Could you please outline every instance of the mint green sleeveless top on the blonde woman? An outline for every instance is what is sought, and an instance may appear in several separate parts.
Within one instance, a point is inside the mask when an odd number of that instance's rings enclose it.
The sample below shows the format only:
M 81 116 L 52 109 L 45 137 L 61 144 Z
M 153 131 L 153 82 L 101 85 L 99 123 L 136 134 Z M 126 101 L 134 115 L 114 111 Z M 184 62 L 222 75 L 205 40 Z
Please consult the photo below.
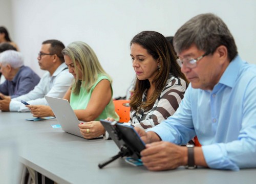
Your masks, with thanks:
M 90 89 L 90 91 L 87 91 L 87 88 L 84 87 L 84 85 L 83 85 L 84 82 L 82 82 L 79 94 L 71 93 L 70 105 L 71 105 L 72 109 L 74 109 L 74 110 L 86 109 L 86 107 L 91 99 L 91 96 L 92 96 L 95 86 L 103 79 L 109 80 L 108 77 L 106 77 L 102 74 L 99 74 L 98 80 L 93 85 L 93 87 Z M 111 86 L 111 93 L 113 95 L 112 86 Z M 106 107 L 104 108 L 102 113 L 95 119 L 95 121 L 99 121 L 100 119 L 104 120 L 108 117 L 114 118 L 116 121 L 119 121 L 119 116 L 115 112 L 115 106 L 114 106 L 113 100 L 111 100 L 109 102 L 109 104 L 106 105 Z

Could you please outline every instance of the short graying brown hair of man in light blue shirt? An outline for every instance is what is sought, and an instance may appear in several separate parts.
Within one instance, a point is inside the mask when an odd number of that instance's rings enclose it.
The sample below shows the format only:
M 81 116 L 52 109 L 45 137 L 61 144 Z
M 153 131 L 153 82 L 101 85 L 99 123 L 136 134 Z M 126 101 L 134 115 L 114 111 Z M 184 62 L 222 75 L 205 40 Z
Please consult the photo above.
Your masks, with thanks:
M 193 44 L 207 54 L 213 54 L 220 45 L 224 45 L 230 61 L 238 55 L 236 43 L 226 24 L 212 13 L 191 18 L 176 32 L 174 48 L 178 54 Z

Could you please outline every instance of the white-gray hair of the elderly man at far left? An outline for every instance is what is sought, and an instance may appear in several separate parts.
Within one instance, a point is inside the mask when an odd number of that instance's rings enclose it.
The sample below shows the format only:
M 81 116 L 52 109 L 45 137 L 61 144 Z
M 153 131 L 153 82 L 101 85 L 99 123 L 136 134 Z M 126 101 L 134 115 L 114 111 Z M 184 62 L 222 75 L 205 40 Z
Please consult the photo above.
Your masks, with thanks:
M 0 63 L 2 63 L 4 66 L 10 64 L 11 67 L 16 69 L 24 65 L 24 59 L 22 53 L 13 50 L 7 50 L 0 54 Z

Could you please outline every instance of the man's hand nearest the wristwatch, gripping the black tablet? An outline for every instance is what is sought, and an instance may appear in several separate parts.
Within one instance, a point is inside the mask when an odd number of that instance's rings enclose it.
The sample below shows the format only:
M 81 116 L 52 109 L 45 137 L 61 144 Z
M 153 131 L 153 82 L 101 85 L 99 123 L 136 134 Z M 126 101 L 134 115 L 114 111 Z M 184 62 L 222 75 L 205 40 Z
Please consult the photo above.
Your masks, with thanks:
M 140 154 L 143 165 L 151 171 L 176 169 L 187 164 L 187 148 L 169 142 L 147 144 Z

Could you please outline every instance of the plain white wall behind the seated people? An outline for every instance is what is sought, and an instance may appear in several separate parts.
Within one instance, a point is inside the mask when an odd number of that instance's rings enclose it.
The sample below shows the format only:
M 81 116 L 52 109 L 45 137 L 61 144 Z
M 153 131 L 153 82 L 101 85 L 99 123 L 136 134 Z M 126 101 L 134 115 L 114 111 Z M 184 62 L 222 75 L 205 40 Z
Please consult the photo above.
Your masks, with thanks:
M 226 22 L 242 58 L 256 63 L 255 0 L 12 0 L 13 37 L 26 64 L 40 75 L 44 71 L 36 57 L 42 41 L 87 42 L 113 77 L 117 97 L 125 95 L 135 76 L 129 46 L 133 36 L 143 30 L 174 35 L 185 21 L 206 12 Z

